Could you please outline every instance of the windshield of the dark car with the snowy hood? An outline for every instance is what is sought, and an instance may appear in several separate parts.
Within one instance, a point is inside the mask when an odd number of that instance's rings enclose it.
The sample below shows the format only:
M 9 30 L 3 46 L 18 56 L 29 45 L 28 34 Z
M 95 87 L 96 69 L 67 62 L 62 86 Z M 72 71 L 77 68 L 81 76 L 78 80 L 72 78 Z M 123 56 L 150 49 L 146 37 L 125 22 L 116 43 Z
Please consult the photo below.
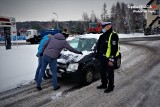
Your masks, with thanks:
M 79 51 L 91 51 L 96 41 L 95 38 L 75 38 L 69 44 Z

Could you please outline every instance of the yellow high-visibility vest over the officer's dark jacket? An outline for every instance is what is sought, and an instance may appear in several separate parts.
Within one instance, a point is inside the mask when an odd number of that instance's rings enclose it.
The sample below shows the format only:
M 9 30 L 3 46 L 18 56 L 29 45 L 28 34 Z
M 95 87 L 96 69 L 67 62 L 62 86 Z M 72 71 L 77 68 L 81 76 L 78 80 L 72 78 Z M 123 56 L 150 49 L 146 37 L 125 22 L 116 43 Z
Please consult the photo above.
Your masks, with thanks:
M 116 33 L 116 32 L 113 32 L 113 33 Z M 107 57 L 107 58 L 109 58 L 110 55 L 111 55 L 111 37 L 112 37 L 112 34 L 113 34 L 113 33 L 110 34 L 109 40 L 108 40 L 108 48 L 107 48 L 107 52 L 106 52 L 106 57 Z M 116 33 L 116 34 L 117 34 L 117 33 Z M 118 36 L 118 34 L 117 34 L 117 36 Z M 119 41 L 118 41 L 118 51 L 117 51 L 117 53 L 116 53 L 116 56 L 119 55 L 119 50 L 120 50 L 120 48 L 119 48 Z

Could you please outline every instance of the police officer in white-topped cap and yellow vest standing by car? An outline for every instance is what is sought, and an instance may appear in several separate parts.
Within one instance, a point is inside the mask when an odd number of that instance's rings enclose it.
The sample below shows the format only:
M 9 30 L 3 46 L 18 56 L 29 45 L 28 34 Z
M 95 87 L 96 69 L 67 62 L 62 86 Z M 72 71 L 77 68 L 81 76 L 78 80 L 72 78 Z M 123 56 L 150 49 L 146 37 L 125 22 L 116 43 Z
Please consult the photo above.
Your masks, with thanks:
M 101 22 L 103 34 L 100 36 L 97 45 L 96 57 L 101 62 L 101 82 L 97 89 L 106 89 L 109 93 L 114 90 L 114 61 L 119 55 L 118 34 L 112 30 L 111 22 Z

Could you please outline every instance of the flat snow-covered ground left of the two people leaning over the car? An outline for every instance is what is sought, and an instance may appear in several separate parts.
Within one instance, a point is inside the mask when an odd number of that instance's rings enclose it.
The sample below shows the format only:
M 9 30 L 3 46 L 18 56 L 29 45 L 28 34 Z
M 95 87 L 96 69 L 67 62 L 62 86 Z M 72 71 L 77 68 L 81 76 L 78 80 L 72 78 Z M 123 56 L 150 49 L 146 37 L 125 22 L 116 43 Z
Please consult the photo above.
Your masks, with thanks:
M 34 79 L 38 45 L 0 47 L 0 91 L 17 87 Z

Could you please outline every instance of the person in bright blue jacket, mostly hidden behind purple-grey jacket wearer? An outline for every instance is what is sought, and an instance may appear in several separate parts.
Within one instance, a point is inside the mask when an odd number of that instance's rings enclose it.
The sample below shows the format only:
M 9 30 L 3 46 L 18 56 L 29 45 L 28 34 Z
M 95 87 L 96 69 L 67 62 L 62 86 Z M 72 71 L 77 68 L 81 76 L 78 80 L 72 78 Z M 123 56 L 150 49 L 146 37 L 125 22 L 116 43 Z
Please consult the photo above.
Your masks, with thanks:
M 43 56 L 42 48 L 43 48 L 45 42 L 51 37 L 52 37 L 51 34 L 48 34 L 48 35 L 44 36 L 42 38 L 42 40 L 40 41 L 40 44 L 38 46 L 38 52 L 37 52 L 37 55 L 36 55 L 38 57 L 38 67 L 37 67 L 35 78 L 34 78 L 35 81 L 37 81 L 39 72 L 40 72 L 41 67 L 42 67 L 42 56 Z

